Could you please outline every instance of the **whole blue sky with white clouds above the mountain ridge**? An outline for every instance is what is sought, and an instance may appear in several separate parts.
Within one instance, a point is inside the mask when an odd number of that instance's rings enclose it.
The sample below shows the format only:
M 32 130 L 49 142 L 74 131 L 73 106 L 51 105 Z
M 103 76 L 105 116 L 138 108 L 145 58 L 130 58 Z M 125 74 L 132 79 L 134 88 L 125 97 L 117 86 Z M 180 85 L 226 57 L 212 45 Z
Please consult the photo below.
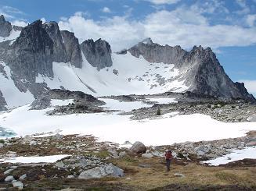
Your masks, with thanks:
M 256 0 L 1 0 L 17 25 L 55 20 L 80 41 L 102 37 L 112 49 L 146 37 L 159 44 L 211 47 L 234 81 L 256 95 Z

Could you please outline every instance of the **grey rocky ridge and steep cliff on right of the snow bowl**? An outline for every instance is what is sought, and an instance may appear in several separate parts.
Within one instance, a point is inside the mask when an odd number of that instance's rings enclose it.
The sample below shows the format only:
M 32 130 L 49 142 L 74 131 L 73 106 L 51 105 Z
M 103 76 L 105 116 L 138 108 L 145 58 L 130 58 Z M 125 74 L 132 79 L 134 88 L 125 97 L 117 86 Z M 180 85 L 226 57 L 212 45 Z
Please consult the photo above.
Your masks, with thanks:
M 193 93 L 254 99 L 244 84 L 233 83 L 229 79 L 211 48 L 195 46 L 191 51 L 185 51 L 179 46 L 161 46 L 146 39 L 128 51 L 137 58 L 142 55 L 148 62 L 174 64 L 179 69 L 179 75 L 174 80 L 185 80 L 189 91 Z

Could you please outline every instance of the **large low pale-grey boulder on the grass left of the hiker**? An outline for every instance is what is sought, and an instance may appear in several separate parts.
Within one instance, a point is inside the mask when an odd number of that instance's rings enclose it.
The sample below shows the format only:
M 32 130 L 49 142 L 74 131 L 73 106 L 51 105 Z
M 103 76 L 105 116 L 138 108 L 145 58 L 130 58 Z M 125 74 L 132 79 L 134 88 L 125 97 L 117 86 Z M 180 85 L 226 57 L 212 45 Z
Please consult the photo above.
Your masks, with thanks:
M 124 170 L 110 163 L 81 172 L 78 179 L 99 179 L 105 176 L 122 177 L 124 176 Z

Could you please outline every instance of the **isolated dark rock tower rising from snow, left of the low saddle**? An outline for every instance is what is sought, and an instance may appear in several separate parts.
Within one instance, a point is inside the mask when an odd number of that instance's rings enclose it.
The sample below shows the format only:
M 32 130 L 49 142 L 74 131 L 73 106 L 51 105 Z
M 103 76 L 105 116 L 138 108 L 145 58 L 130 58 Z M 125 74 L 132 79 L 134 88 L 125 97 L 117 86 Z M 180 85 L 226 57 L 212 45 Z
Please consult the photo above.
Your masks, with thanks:
M 81 50 L 87 61 L 97 69 L 110 67 L 113 64 L 110 44 L 106 41 L 101 39 L 98 41 L 93 41 L 92 39 L 84 41 L 81 44 Z

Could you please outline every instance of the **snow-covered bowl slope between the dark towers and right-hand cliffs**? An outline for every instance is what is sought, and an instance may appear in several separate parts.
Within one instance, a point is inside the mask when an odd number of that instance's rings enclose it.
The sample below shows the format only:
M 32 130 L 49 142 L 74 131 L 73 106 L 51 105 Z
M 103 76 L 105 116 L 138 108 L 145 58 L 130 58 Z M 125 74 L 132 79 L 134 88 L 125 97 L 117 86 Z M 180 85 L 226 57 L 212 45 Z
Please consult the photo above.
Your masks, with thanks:
M 113 65 L 97 70 L 83 56 L 82 68 L 67 63 L 53 63 L 54 78 L 38 76 L 37 83 L 47 83 L 50 88 L 64 87 L 81 90 L 96 96 L 117 94 L 156 94 L 167 90 L 182 92 L 188 89 L 184 81 L 172 80 L 178 76 L 174 65 L 150 63 L 144 58 L 112 54 Z

